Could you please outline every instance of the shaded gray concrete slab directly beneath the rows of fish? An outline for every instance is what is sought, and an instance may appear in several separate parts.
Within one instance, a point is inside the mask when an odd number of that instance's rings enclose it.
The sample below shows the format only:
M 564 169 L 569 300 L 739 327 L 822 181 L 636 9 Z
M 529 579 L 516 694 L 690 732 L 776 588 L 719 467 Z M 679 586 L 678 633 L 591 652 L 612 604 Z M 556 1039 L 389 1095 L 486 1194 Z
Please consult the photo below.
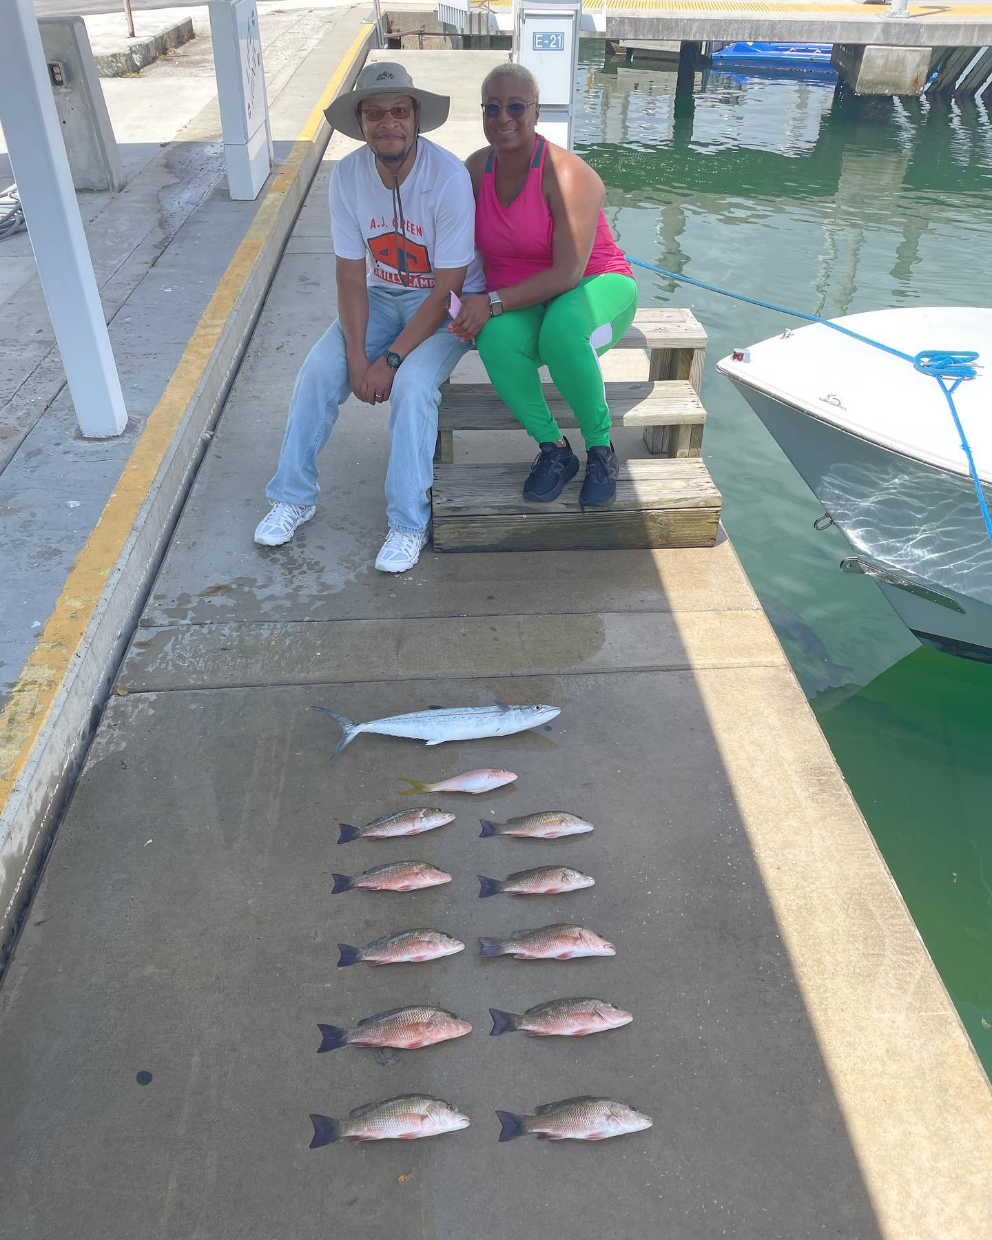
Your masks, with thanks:
M 505 682 L 435 672 L 316 701 L 363 719 L 494 693 Z M 0 1235 L 47 1240 L 69 1210 L 78 1238 L 878 1235 L 693 676 L 527 677 L 508 696 L 562 715 L 551 733 L 434 750 L 360 738 L 334 766 L 308 687 L 113 702 L 2 992 Z M 335 820 L 403 804 L 397 775 L 476 765 L 507 765 L 518 782 L 440 799 L 459 817 L 429 836 L 334 843 Z M 477 838 L 480 816 L 544 805 L 574 807 L 596 832 L 557 846 Z M 454 882 L 330 897 L 331 870 L 407 856 Z M 477 872 L 560 859 L 596 887 L 477 899 Z M 618 956 L 475 956 L 476 935 L 573 918 Z M 335 970 L 337 942 L 413 925 L 469 949 Z M 568 994 L 635 1022 L 565 1043 L 487 1037 L 490 1006 Z M 474 1033 L 392 1068 L 355 1049 L 315 1054 L 319 1021 L 419 999 Z M 309 1112 L 412 1090 L 453 1101 L 471 1128 L 306 1148 Z M 583 1092 L 630 1101 L 655 1128 L 599 1147 L 497 1145 L 494 1109 Z

